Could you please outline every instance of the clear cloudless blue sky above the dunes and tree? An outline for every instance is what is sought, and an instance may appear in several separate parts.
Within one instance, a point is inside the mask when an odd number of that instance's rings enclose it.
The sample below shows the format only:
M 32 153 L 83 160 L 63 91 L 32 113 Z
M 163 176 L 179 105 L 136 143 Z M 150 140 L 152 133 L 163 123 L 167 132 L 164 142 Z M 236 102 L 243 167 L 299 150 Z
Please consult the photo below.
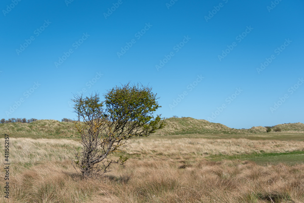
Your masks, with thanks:
M 0 8 L 1 118 L 74 119 L 73 94 L 131 81 L 153 87 L 163 117 L 231 128 L 304 123 L 300 0 L 3 0 Z

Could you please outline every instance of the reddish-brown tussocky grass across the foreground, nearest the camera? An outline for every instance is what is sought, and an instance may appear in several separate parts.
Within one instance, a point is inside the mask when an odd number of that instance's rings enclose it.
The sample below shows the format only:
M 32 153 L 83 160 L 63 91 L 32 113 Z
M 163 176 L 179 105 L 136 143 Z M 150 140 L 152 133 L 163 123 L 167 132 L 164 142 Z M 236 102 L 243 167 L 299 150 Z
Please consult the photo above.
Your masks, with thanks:
M 81 180 L 68 160 L 45 163 L 12 177 L 10 202 L 304 201 L 303 165 L 195 161 L 180 169 L 176 160 L 133 159 L 96 180 Z

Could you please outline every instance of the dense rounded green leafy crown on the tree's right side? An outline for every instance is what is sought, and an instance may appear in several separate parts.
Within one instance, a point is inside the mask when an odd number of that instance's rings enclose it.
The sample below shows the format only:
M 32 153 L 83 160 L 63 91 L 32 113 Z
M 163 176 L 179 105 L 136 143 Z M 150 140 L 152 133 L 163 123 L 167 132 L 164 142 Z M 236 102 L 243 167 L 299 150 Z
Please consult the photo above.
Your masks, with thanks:
M 156 101 L 156 95 L 151 92 L 152 88 L 130 85 L 123 87 L 116 86 L 104 95 L 106 114 L 109 120 L 117 123 L 119 129 L 122 126 L 129 126 L 133 129 L 141 129 L 140 132 L 133 136 L 148 136 L 157 129 L 164 127 L 164 123 L 158 126 L 161 121 L 161 115 L 157 115 L 154 119 L 153 113 L 160 108 Z M 133 134 L 129 130 L 129 134 Z

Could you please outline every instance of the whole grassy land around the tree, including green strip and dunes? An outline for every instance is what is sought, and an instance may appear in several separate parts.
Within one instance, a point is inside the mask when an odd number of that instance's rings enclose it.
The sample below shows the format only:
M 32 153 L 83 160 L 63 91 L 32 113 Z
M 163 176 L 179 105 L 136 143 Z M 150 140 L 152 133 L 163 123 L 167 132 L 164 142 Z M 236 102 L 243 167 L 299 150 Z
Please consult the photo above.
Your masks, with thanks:
M 112 155 L 129 157 L 124 165 L 88 180 L 81 180 L 71 165 L 73 148 L 80 149 L 71 123 L 0 125 L 1 133 L 12 135 L 10 198 L 4 198 L 1 187 L 0 202 L 304 202 L 301 124 L 286 124 L 282 132 L 257 127 L 231 133 L 210 123 L 199 128 L 209 128 L 200 134 L 187 127 L 189 122 L 199 125 L 194 120 L 171 123 L 166 129 L 170 135 L 162 131 L 133 138 Z M 179 135 L 182 128 L 185 133 Z M 3 159 L 0 164 L 4 166 Z M 0 177 L 4 174 L 2 167 Z

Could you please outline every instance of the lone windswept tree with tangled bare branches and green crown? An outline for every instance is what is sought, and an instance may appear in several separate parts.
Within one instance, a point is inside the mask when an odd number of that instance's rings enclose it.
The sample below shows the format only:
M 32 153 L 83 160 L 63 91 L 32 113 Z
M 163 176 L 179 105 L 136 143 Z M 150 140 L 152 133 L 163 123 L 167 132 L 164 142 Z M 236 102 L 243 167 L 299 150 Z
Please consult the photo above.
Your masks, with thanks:
M 152 88 L 130 85 L 116 86 L 104 94 L 101 102 L 99 94 L 82 98 L 74 95 L 74 112 L 77 120 L 74 126 L 81 138 L 80 152 L 75 151 L 74 168 L 82 177 L 94 177 L 109 172 L 113 163 L 123 164 L 128 159 L 120 156 L 108 158 L 128 146 L 132 137 L 149 136 L 165 125 L 160 123 L 161 115 L 153 116 L 159 107 Z

